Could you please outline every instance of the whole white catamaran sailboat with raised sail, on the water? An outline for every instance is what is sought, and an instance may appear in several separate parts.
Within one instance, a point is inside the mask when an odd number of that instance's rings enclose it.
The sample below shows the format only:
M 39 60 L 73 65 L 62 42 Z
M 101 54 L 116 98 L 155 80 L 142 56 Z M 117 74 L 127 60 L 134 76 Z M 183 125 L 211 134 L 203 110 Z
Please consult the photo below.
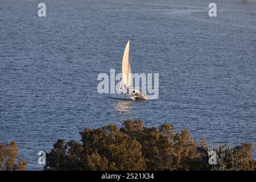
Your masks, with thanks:
M 131 88 L 131 65 L 129 62 L 130 40 L 127 42 L 125 51 L 123 52 L 122 62 L 122 81 L 118 93 L 110 94 L 112 98 L 123 100 L 148 100 L 146 93 L 141 91 L 141 88 Z

